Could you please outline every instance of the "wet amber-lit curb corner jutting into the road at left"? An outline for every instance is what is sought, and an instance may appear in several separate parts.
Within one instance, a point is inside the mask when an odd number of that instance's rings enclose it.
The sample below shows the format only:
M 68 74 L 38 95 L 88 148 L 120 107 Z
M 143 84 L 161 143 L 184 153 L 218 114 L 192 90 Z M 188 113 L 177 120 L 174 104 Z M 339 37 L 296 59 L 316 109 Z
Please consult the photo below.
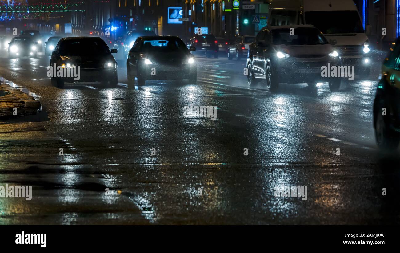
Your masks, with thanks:
M 22 87 L 14 88 L 16 85 L 4 78 L 0 81 L 0 118 L 32 115 L 42 110 L 39 100 L 18 89 Z

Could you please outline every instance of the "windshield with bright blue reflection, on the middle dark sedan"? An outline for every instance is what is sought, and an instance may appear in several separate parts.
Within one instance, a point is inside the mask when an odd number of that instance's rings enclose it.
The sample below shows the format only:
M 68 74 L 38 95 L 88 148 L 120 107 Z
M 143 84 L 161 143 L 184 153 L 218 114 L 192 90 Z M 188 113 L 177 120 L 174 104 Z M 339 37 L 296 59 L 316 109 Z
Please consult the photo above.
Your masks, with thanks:
M 177 38 L 167 38 L 162 40 L 144 40 L 141 52 L 173 52 L 187 50 L 182 40 Z

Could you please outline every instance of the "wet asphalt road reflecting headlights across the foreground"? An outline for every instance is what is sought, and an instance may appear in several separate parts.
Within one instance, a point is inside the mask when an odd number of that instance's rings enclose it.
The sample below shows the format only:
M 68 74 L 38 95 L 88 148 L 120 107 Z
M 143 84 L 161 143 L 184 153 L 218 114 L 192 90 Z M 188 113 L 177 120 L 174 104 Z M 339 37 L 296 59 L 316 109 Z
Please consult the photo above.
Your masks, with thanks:
M 43 111 L 0 121 L 0 185 L 33 191 L 0 198 L 0 224 L 400 224 L 399 160 L 376 150 L 372 127 L 378 61 L 339 92 L 271 93 L 225 57 L 199 58 L 196 85 L 131 89 L 118 60 L 117 88 L 59 89 L 49 56 L 5 56 L 2 82 Z M 217 119 L 184 117 L 191 103 L 217 106 Z M 282 184 L 307 186 L 308 199 L 275 197 Z

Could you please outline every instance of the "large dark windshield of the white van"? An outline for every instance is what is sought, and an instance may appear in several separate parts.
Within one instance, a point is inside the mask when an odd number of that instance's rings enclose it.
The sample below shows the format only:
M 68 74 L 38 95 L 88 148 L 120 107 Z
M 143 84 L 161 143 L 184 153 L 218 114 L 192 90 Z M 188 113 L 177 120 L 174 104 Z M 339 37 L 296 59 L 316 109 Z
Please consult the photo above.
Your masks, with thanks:
M 340 18 L 346 17 L 346 18 Z M 306 12 L 306 24 L 312 24 L 323 34 L 364 33 L 355 10 Z

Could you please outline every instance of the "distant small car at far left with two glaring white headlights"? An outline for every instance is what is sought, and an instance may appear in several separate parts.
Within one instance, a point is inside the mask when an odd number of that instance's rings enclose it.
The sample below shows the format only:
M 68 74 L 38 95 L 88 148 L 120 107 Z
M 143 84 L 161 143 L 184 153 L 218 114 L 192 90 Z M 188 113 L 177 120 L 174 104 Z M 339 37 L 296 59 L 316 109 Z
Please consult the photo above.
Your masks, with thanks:
M 32 38 L 27 37 L 14 37 L 11 42 L 8 42 L 8 58 L 19 58 L 22 56 L 28 56 L 36 58 L 37 44 Z

